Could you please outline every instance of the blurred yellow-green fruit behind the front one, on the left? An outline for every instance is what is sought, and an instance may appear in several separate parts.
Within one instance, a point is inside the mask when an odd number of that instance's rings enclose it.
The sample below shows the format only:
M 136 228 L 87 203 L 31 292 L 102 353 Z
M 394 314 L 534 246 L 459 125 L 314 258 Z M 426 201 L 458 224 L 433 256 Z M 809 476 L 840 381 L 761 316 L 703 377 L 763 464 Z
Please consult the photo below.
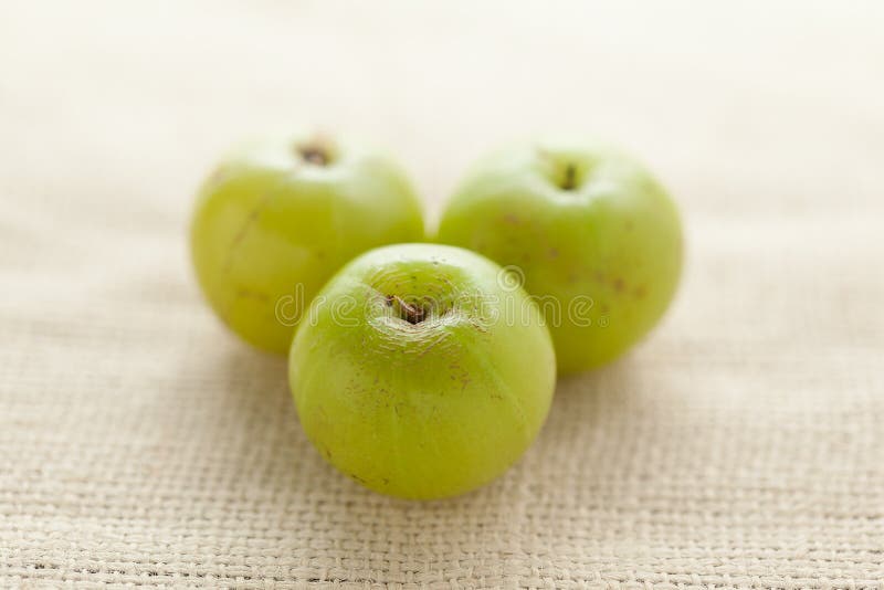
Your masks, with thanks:
M 197 278 L 218 316 L 252 345 L 285 354 L 303 309 L 346 262 L 372 247 L 424 239 L 403 172 L 358 146 L 305 160 L 311 138 L 231 155 L 199 191 L 190 229 Z

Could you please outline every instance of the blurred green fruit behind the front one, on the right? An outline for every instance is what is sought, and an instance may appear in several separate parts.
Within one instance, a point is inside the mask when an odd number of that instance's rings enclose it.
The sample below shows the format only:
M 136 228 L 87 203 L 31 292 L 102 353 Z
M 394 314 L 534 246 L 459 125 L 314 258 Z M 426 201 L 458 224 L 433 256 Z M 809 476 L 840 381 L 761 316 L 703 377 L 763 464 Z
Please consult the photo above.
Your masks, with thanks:
M 606 364 L 644 336 L 682 267 L 681 223 L 666 192 L 631 158 L 591 144 L 538 143 L 488 157 L 449 203 L 439 241 L 522 268 L 561 373 Z

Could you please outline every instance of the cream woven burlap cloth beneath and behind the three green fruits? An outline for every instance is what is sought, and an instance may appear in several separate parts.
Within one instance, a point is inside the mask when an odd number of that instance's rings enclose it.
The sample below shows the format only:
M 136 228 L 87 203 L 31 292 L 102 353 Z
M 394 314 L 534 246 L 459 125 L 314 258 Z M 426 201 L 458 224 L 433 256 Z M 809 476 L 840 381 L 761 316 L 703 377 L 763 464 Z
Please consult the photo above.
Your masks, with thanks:
M 884 8 L 613 4 L 0 3 L 0 587 L 882 588 Z M 189 267 L 213 160 L 305 125 L 431 220 L 502 141 L 612 138 L 677 302 L 493 485 L 367 492 Z

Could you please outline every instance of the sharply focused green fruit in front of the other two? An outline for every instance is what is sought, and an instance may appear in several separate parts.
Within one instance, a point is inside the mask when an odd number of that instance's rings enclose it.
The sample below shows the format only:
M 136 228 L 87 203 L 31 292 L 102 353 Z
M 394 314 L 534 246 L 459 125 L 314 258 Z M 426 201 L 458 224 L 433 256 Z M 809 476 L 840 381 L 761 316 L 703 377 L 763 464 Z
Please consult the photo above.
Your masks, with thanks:
M 481 486 L 523 454 L 556 361 L 537 306 L 499 273 L 465 250 L 402 244 L 329 281 L 290 356 L 298 417 L 323 456 L 371 489 L 427 499 Z M 431 302 L 423 322 L 403 319 L 391 295 Z

